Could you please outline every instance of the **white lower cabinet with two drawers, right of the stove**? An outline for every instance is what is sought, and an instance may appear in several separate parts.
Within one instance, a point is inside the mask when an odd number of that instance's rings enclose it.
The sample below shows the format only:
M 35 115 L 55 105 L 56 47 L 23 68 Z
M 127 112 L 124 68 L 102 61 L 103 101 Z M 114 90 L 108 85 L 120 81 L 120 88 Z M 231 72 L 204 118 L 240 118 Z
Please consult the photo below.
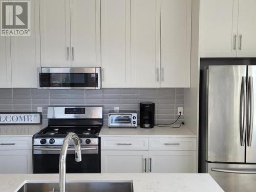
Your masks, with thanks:
M 136 150 L 140 140 L 148 143 Z M 195 137 L 103 137 L 101 144 L 101 173 L 196 173 Z

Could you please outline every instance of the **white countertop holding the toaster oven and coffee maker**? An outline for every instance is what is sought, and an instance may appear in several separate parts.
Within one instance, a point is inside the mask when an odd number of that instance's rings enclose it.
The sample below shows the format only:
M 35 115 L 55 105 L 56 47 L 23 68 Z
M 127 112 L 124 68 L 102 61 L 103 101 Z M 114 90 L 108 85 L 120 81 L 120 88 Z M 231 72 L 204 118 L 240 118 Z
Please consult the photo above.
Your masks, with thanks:
M 196 137 L 186 126 L 180 128 L 157 127 L 152 129 L 143 129 L 139 125 L 135 128 L 109 128 L 103 126 L 100 137 Z

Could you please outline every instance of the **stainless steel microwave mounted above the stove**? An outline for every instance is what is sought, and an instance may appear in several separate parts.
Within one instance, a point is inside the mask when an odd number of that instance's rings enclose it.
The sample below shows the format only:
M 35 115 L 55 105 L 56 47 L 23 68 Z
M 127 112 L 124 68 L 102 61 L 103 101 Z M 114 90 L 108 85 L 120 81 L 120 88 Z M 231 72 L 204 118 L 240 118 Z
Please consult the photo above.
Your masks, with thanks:
M 100 68 L 37 68 L 38 89 L 100 89 Z

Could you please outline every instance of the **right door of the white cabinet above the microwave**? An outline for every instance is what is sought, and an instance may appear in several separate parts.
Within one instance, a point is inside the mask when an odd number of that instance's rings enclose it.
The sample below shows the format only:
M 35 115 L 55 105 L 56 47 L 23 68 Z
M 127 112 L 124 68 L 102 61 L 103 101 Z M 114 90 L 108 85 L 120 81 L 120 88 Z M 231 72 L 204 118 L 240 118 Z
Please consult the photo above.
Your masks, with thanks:
M 71 66 L 100 67 L 100 0 L 70 0 L 70 18 Z

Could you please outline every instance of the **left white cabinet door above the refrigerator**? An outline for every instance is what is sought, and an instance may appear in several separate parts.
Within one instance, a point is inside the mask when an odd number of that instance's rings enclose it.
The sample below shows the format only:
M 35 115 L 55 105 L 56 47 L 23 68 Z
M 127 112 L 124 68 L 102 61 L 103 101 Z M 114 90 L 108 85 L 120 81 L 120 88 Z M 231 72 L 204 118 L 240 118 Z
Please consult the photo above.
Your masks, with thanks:
M 200 56 L 237 57 L 237 27 L 238 0 L 200 1 Z

